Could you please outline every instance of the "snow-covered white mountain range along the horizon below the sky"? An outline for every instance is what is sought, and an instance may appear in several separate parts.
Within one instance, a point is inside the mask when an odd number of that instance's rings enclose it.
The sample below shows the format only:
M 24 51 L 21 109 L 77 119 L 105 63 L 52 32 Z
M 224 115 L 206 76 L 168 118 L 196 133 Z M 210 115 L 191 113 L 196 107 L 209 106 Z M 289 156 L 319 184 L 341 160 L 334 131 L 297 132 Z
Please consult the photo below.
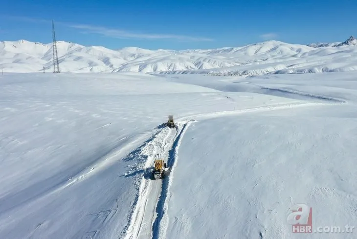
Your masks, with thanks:
M 322 43 L 326 44 L 326 43 Z M 264 75 L 357 70 L 357 40 L 298 45 L 270 40 L 243 47 L 207 50 L 111 50 L 58 41 L 62 72 Z M 52 43 L 0 42 L 3 72 L 52 71 Z

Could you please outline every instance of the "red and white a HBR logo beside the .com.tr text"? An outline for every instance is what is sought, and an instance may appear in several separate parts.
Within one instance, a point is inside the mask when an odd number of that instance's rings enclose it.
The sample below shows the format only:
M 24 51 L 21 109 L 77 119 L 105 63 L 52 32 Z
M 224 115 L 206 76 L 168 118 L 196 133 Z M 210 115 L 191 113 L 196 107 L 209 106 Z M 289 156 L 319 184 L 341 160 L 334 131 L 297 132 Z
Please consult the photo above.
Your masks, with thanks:
M 312 233 L 312 207 L 299 203 L 292 205 L 288 223 L 293 233 Z

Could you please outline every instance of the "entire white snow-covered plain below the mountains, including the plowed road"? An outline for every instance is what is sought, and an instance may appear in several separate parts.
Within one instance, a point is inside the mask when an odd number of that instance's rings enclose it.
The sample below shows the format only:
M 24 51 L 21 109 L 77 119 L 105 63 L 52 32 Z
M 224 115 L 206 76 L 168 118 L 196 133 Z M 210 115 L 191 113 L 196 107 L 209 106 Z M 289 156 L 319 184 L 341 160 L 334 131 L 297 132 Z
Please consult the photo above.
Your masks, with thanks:
M 356 79 L 5 73 L 0 238 L 356 238 Z

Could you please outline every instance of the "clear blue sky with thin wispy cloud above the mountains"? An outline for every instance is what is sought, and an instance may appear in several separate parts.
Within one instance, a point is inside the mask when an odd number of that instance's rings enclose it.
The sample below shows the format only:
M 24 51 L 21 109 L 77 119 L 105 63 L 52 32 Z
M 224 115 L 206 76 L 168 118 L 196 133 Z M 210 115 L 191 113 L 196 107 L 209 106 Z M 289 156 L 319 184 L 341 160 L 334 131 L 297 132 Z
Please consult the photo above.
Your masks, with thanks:
M 4 0 L 0 40 L 194 49 L 357 35 L 357 0 Z

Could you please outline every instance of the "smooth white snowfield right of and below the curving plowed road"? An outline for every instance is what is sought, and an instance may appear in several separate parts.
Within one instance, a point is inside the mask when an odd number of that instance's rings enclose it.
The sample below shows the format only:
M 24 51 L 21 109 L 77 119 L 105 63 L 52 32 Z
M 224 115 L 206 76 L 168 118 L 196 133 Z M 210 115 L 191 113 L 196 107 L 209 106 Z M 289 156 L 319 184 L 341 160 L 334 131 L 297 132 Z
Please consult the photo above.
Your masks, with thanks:
M 313 208 L 314 230 L 356 226 L 357 113 L 328 108 L 329 114 L 320 107 L 277 110 L 191 127 L 179 147 L 161 238 L 301 239 L 287 225 L 297 203 Z

